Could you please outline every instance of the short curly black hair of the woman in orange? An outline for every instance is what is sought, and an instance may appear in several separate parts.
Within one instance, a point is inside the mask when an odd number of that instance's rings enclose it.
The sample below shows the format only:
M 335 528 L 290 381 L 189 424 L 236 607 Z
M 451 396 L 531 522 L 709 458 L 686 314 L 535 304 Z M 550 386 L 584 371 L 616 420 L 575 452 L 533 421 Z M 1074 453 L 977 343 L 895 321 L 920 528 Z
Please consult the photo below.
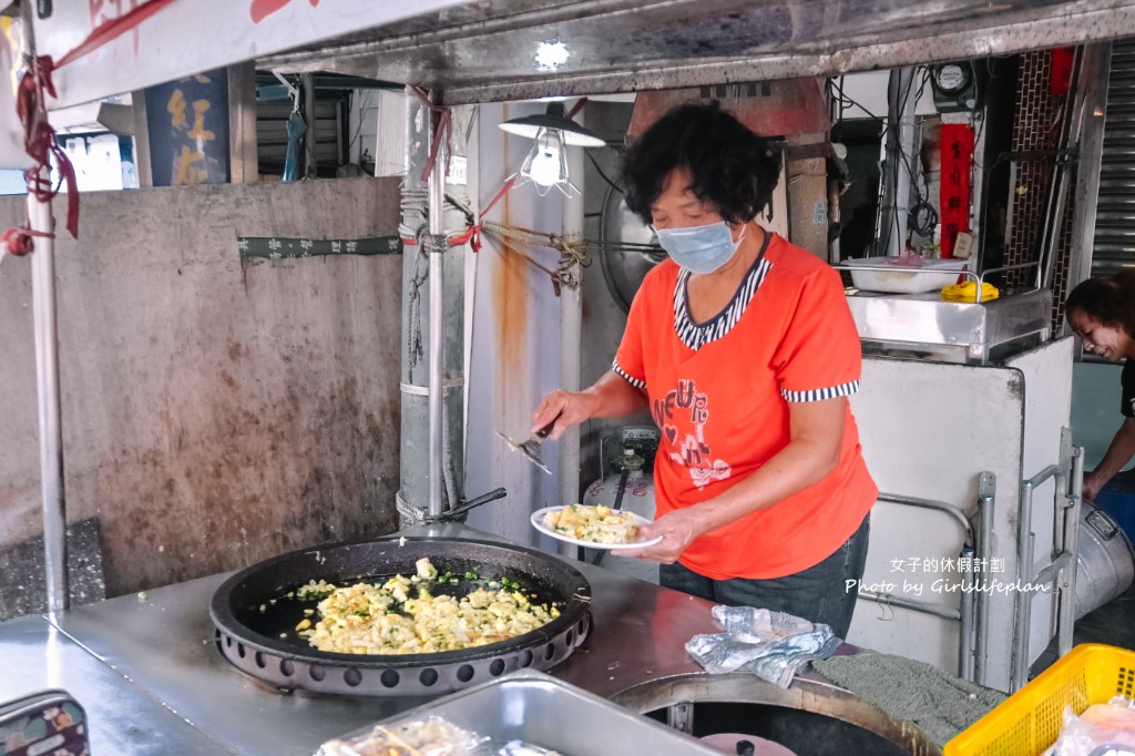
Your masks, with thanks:
M 672 108 L 631 144 L 621 184 L 627 207 L 650 224 L 650 207 L 666 177 L 687 168 L 690 191 L 731 224 L 753 220 L 772 200 L 781 151 L 757 136 L 714 100 Z

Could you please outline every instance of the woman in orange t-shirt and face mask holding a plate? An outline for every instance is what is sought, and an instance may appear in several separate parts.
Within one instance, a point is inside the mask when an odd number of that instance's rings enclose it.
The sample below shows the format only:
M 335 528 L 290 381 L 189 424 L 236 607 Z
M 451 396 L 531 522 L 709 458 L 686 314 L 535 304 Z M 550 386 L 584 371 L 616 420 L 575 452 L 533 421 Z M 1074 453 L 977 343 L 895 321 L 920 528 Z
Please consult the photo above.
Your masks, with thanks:
M 861 353 L 839 275 L 754 218 L 780 156 L 716 103 L 631 146 L 627 204 L 670 254 L 631 305 L 612 369 L 544 397 L 550 436 L 649 406 L 663 586 L 789 612 L 847 636 L 878 493 L 848 396 Z

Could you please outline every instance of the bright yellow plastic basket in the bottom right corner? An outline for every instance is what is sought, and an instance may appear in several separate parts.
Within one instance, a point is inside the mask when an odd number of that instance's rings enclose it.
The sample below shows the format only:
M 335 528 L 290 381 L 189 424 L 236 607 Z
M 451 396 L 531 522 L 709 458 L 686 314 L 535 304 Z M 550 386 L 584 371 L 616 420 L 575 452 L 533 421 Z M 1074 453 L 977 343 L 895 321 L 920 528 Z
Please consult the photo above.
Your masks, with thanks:
M 1076 646 L 945 744 L 945 756 L 1036 756 L 1060 737 L 1065 706 L 1079 714 L 1112 696 L 1135 698 L 1135 652 Z

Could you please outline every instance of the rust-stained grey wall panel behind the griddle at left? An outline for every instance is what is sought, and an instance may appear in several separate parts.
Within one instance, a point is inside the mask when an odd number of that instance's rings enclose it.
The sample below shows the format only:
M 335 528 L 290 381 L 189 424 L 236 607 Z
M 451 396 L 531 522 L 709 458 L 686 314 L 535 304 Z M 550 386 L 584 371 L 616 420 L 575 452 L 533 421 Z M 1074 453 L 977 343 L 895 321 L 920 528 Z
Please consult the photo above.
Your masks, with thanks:
M 109 596 L 394 529 L 402 259 L 242 266 L 237 236 L 394 234 L 396 179 L 90 193 L 58 243 L 68 521 Z M 59 203 L 57 212 L 61 212 Z M 0 225 L 23 220 L 20 199 Z M 37 534 L 28 260 L 0 267 L 0 549 Z

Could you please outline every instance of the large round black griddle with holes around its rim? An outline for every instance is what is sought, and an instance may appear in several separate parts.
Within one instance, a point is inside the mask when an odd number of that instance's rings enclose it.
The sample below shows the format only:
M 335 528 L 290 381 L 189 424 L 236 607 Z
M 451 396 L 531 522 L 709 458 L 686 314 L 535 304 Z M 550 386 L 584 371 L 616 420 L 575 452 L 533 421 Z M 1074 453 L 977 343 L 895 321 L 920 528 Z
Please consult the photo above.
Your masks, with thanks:
M 495 578 L 520 582 L 560 616 L 531 632 L 487 646 L 434 654 L 321 652 L 295 631 L 312 602 L 286 598 L 310 580 L 350 585 L 412 576 L 428 556 L 440 573 L 461 578 L 435 593 L 464 595 Z M 275 600 L 274 600 L 275 599 Z M 382 538 L 305 548 L 254 564 L 213 594 L 217 647 L 233 665 L 280 689 L 363 696 L 435 696 L 523 667 L 548 670 L 568 658 L 590 630 L 591 587 L 568 563 L 522 546 L 448 538 Z

